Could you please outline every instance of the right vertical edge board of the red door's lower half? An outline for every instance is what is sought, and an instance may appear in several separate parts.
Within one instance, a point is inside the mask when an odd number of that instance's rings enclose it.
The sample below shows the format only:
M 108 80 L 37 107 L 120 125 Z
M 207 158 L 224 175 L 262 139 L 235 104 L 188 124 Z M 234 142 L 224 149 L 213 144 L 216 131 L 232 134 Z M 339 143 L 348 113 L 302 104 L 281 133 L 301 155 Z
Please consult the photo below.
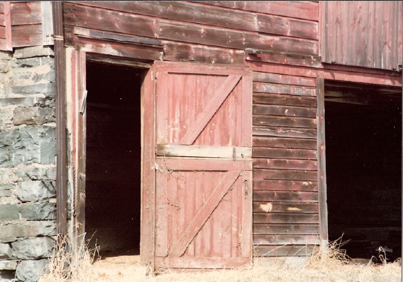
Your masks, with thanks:
M 252 255 L 252 171 L 243 171 L 242 187 L 242 257 Z

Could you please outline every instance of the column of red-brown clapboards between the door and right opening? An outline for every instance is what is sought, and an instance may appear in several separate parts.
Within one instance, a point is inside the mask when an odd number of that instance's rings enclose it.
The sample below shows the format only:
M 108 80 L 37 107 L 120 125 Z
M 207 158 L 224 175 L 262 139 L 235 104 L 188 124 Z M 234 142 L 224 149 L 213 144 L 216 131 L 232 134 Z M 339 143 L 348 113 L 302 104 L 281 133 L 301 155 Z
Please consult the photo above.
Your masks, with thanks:
M 311 78 L 253 73 L 256 255 L 305 256 L 319 244 L 315 86 Z

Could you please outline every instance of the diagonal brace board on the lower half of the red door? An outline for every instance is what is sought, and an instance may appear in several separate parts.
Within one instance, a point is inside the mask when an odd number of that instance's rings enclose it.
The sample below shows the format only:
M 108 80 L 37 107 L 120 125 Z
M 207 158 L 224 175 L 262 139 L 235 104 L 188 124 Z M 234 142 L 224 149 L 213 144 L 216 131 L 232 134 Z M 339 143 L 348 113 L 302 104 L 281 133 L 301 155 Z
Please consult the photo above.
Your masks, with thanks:
M 214 209 L 219 205 L 220 201 L 227 194 L 227 192 L 234 185 L 235 181 L 241 175 L 240 171 L 227 171 L 224 175 L 223 179 L 219 182 L 219 184 L 214 189 L 213 193 L 207 199 L 205 204 L 199 209 L 196 216 L 189 223 L 185 231 L 179 237 L 178 241 L 172 246 L 172 251 L 169 253 L 170 257 L 180 257 L 186 251 L 187 246 L 193 240 L 193 238 L 197 235 L 199 230 L 203 227 L 203 225 L 210 218 L 211 214 L 214 212 Z

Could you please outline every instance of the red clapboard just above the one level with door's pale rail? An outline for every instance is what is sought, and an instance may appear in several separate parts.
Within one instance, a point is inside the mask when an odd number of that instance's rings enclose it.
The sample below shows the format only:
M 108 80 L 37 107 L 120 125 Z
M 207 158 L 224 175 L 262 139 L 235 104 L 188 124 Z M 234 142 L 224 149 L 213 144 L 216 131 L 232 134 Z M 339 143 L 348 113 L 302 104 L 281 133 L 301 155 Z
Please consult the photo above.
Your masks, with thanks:
M 316 149 L 315 139 L 277 138 L 253 136 L 253 147 L 272 147 L 288 149 Z

